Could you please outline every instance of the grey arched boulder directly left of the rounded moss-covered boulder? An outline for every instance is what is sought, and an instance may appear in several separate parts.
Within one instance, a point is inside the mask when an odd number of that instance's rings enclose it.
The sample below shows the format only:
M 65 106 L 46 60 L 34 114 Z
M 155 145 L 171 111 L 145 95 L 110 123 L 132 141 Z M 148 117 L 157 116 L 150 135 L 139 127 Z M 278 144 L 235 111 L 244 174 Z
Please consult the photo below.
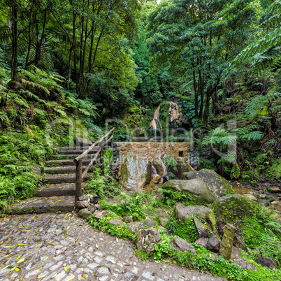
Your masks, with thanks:
M 215 230 L 216 222 L 215 215 L 212 210 L 206 206 L 184 206 L 182 203 L 175 205 L 175 217 L 181 222 L 186 222 L 193 217 L 196 217 L 202 222 L 205 222 L 210 229 Z

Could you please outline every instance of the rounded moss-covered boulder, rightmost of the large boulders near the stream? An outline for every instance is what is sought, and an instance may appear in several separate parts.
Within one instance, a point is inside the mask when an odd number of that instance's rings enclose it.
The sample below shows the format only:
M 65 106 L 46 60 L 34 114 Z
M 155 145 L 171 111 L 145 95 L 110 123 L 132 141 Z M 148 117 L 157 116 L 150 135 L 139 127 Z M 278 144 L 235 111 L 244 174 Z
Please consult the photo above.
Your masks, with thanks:
M 239 194 L 229 194 L 219 198 L 211 206 L 217 219 L 224 222 L 234 223 L 244 217 L 256 215 L 258 205 L 256 202 L 247 199 Z

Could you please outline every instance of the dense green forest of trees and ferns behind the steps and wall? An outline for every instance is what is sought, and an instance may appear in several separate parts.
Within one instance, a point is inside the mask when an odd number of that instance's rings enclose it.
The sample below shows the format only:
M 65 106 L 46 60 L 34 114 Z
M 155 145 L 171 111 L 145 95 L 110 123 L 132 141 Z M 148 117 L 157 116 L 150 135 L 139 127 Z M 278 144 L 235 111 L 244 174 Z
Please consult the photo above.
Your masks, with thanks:
M 97 139 L 108 118 L 122 120 L 112 127 L 124 141 L 124 124 L 147 129 L 160 104 L 165 127 L 169 101 L 185 129 L 170 141 L 192 134 L 199 150 L 212 145 L 226 155 L 201 159 L 201 167 L 252 185 L 280 180 L 280 0 L 0 6 L 1 205 L 34 189 L 31 167 L 53 152 L 50 122 L 74 118 Z M 63 122 L 51 135 L 57 145 L 69 141 Z

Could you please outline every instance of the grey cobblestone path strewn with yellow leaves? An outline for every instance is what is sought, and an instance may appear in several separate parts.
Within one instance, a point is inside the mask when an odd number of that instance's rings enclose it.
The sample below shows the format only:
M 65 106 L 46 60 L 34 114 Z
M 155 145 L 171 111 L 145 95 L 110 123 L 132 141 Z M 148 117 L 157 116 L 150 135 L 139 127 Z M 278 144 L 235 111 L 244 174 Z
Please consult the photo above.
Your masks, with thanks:
M 129 240 L 92 229 L 73 212 L 0 219 L 0 280 L 223 279 L 175 264 L 142 261 Z

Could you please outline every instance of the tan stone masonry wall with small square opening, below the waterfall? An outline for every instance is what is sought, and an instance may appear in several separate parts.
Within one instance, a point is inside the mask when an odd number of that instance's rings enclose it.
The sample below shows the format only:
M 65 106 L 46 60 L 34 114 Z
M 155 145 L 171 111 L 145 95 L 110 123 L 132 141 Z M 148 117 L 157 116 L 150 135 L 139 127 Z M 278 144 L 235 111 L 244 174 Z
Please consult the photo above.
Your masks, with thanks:
M 119 154 L 120 164 L 129 154 L 135 154 L 137 158 L 148 159 L 152 161 L 156 157 L 162 157 L 163 154 L 170 154 L 177 157 L 188 157 L 190 143 L 116 143 L 116 150 Z

